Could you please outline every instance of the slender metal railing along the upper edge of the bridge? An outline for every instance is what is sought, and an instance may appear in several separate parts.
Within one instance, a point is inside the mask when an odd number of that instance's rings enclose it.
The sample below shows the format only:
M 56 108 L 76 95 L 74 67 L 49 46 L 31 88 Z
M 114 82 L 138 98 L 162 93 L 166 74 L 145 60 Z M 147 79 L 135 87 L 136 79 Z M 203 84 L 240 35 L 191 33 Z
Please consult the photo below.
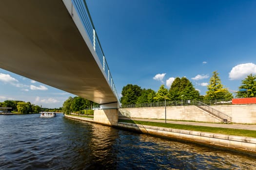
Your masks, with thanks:
M 91 41 L 91 44 L 93 45 L 94 51 L 97 53 L 98 55 L 98 59 L 101 63 L 101 66 L 103 68 L 103 70 L 105 71 L 105 74 L 107 76 L 107 80 L 109 81 L 113 92 L 115 93 L 115 95 L 118 98 L 119 101 L 119 96 L 118 96 L 118 92 L 116 89 L 116 86 L 114 84 L 112 75 L 110 73 L 104 52 L 102 50 L 102 47 L 100 45 L 99 39 L 98 39 L 98 35 L 97 32 L 95 30 L 94 24 L 93 24 L 93 20 L 91 18 L 91 15 L 89 13 L 89 9 L 88 6 L 85 2 L 85 0 L 72 0 L 72 4 L 74 5 L 79 18 L 83 24 L 84 29 L 86 30 L 86 33 Z

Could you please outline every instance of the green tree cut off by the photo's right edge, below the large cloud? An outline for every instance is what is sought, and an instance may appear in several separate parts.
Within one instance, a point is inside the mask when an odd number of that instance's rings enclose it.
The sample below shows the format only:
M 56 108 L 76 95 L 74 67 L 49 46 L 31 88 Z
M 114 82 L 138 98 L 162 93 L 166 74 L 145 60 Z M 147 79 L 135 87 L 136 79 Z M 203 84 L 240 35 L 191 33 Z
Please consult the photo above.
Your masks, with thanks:
M 242 80 L 242 85 L 238 89 L 236 92 L 236 97 L 238 98 L 256 97 L 256 76 L 248 75 Z

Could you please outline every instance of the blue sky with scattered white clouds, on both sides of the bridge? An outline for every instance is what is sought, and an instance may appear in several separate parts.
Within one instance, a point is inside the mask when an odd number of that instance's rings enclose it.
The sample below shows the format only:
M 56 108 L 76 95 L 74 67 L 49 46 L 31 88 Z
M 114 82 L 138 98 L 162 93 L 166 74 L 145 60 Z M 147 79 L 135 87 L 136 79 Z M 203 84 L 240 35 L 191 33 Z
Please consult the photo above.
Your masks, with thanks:
M 204 95 L 212 72 L 236 91 L 256 74 L 256 0 L 86 0 L 118 93 L 187 77 Z M 0 69 L 0 102 L 61 107 L 71 95 Z

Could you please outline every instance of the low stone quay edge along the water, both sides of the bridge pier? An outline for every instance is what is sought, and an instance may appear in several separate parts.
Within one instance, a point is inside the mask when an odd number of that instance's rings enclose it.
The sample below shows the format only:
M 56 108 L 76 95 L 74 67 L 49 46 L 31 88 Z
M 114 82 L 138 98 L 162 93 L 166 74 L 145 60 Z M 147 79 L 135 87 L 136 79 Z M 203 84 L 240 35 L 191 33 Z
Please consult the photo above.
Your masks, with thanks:
M 90 118 L 81 118 L 77 116 L 65 115 L 67 118 L 78 119 L 83 121 L 94 122 Z M 196 122 L 197 123 L 197 122 Z M 214 124 L 214 123 L 211 123 Z M 208 132 L 199 132 L 175 128 L 148 126 L 143 124 L 126 123 L 118 121 L 117 128 L 126 130 L 133 130 L 139 133 L 163 136 L 169 138 L 182 139 L 186 141 L 196 142 L 204 145 L 217 146 L 239 152 L 247 152 L 256 155 L 256 138 L 244 137 L 244 136 L 233 136 L 223 135 Z

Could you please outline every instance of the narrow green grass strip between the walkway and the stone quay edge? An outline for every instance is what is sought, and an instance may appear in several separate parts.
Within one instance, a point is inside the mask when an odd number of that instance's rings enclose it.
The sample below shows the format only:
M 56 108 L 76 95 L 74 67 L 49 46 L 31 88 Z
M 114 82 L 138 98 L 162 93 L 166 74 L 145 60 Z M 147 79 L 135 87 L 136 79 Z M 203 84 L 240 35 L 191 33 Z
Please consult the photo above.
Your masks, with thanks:
M 126 122 L 126 123 L 148 125 L 148 126 L 158 126 L 158 127 L 173 128 L 173 129 L 184 129 L 184 130 L 190 130 L 190 131 L 209 132 L 209 133 L 215 133 L 215 134 L 256 137 L 256 131 L 252 131 L 252 130 L 217 128 L 217 127 L 207 127 L 207 126 L 194 126 L 194 125 L 183 125 L 183 124 L 174 124 L 174 123 L 159 123 L 159 122 L 127 120 L 127 119 L 119 119 L 118 121 Z

